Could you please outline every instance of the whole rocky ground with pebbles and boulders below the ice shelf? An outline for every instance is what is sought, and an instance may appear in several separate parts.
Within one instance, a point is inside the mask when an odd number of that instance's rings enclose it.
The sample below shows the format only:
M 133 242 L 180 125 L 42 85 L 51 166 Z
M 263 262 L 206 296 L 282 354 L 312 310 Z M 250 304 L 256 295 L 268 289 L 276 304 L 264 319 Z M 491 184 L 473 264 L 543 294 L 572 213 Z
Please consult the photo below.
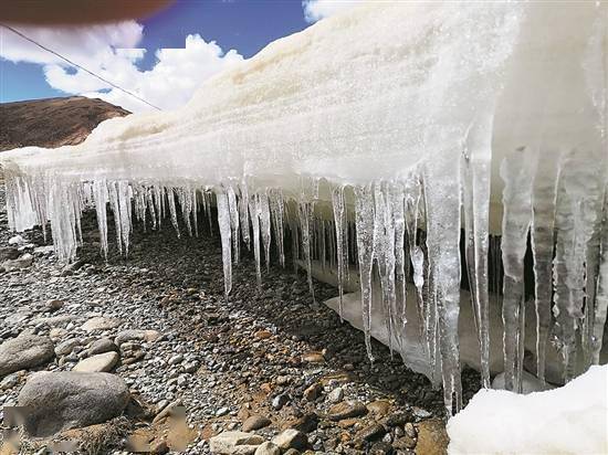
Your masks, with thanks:
M 0 214 L 0 454 L 11 437 L 22 453 L 444 451 L 441 392 L 379 343 L 370 364 L 363 334 L 321 303 L 336 289 L 315 283 L 314 303 L 277 266 L 258 289 L 244 257 L 227 300 L 218 235 L 135 226 L 128 260 L 106 262 L 93 215 L 83 228 L 65 266 Z M 463 381 L 467 400 L 479 377 Z M 34 411 L 11 433 L 17 404 Z

